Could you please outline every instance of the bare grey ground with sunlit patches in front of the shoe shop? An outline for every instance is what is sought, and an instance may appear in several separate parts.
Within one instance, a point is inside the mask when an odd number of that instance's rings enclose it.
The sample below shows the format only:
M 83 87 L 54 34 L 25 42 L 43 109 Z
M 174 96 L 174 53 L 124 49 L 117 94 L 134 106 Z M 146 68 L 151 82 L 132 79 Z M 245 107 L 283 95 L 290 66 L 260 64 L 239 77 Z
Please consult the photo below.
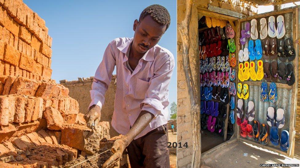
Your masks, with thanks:
M 278 155 L 269 150 L 236 141 L 228 144 L 209 156 L 203 157 L 201 167 L 260 167 L 260 164 L 300 164 L 300 143 L 295 143 L 294 159 Z M 248 153 L 248 156 L 244 156 Z

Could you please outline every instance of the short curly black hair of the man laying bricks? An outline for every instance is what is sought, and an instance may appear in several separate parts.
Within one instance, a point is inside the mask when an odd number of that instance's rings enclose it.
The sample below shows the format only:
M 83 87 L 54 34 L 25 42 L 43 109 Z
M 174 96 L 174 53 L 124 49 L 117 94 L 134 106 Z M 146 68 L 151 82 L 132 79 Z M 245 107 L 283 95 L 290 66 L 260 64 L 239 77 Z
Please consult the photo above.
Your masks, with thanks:
M 171 22 L 171 17 L 170 13 L 164 6 L 157 4 L 148 6 L 140 14 L 139 22 L 142 21 L 147 15 L 150 15 L 157 23 L 166 25 L 166 30 L 168 29 Z

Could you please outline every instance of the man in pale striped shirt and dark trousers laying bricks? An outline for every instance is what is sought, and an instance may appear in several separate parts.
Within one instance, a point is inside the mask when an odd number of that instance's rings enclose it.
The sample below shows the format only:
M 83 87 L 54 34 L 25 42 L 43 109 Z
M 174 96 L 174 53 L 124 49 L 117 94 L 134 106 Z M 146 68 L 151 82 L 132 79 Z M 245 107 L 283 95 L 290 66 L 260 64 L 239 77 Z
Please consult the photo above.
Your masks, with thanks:
M 133 38 L 109 43 L 95 73 L 87 126 L 97 127 L 114 67 L 116 96 L 113 128 L 124 135 L 112 147 L 114 153 L 102 167 L 116 163 L 127 148 L 131 167 L 169 167 L 168 85 L 174 69 L 172 53 L 157 45 L 170 25 L 168 10 L 151 5 L 133 24 Z

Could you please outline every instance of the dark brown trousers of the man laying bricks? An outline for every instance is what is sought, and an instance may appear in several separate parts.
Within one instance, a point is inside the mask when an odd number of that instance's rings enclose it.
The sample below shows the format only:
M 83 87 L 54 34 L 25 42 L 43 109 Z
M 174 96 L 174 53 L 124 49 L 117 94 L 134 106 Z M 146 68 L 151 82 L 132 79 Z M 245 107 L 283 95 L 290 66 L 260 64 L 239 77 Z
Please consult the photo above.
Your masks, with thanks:
M 169 168 L 168 132 L 165 125 L 133 140 L 127 152 L 131 167 Z

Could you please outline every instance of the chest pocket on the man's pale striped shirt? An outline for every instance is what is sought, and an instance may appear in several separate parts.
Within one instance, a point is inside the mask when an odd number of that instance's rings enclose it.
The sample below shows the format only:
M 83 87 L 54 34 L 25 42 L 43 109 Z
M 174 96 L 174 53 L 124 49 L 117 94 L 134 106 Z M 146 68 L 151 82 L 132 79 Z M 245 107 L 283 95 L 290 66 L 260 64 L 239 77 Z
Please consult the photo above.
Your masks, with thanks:
M 132 95 L 136 99 L 145 99 L 146 92 L 149 88 L 149 82 L 136 78 L 132 88 Z

